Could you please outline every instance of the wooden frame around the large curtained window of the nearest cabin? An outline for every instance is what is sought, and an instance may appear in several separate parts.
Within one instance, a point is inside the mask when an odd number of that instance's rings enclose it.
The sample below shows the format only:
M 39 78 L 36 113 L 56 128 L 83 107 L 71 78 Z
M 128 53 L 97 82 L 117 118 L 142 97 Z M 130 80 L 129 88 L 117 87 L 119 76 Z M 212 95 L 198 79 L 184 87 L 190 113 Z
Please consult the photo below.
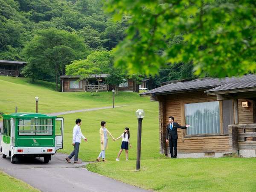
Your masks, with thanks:
M 216 102 L 216 99 L 211 99 L 207 100 L 204 102 Z M 223 108 L 222 108 L 222 101 L 219 102 L 219 117 L 220 117 L 220 133 L 213 133 L 213 134 L 193 134 L 193 135 L 188 135 L 186 129 L 182 129 L 182 140 L 184 139 L 189 139 L 192 137 L 214 137 L 214 136 L 227 136 L 228 134 L 224 134 L 223 130 Z M 193 102 L 181 102 L 181 124 L 185 125 L 186 124 L 186 118 L 185 118 L 185 104 L 192 104 L 192 103 L 202 103 L 202 101 L 193 101 Z

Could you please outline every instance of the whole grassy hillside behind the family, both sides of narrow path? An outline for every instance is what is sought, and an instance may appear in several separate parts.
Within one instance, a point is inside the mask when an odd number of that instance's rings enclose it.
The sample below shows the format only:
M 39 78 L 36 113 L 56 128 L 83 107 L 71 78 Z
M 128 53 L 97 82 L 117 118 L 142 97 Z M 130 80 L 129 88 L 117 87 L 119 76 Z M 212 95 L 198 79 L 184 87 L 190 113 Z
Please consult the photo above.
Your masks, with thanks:
M 100 92 L 99 96 L 90 93 L 60 93 L 54 91 L 54 84 L 46 81 L 36 81 L 31 84 L 29 79 L 0 76 L 0 111 L 13 112 L 15 105 L 18 111 L 34 111 L 34 97 L 39 96 L 39 112 L 50 113 L 69 111 L 82 108 L 111 106 L 112 93 Z M 158 143 L 158 103 L 149 102 L 149 97 L 140 97 L 138 93 L 119 92 L 116 96 L 116 105 L 128 105 L 122 108 L 105 109 L 83 113 L 72 113 L 64 117 L 64 149 L 60 152 L 72 151 L 72 131 L 77 118 L 82 119 L 81 129 L 88 138 L 82 143 L 79 157 L 82 160 L 94 161 L 100 151 L 99 128 L 102 120 L 107 122 L 107 128 L 114 137 L 119 137 L 125 127 L 131 130 L 131 144 L 129 158 L 136 159 L 137 146 L 137 117 L 135 111 L 139 108 L 145 110 L 143 120 L 142 158 L 159 157 Z M 106 152 L 107 160 L 115 160 L 119 151 L 121 140 L 109 140 L 109 149 Z M 122 154 L 121 160 L 125 158 Z

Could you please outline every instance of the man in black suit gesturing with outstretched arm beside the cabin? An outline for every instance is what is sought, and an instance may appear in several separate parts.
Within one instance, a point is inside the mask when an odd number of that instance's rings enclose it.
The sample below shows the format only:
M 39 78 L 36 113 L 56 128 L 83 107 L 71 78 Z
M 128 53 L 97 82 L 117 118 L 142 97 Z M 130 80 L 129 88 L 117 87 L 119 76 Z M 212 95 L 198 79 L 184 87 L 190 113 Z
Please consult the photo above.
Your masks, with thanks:
M 173 121 L 174 121 L 174 117 L 169 116 L 169 124 L 166 126 L 166 143 L 168 143 L 168 140 L 169 140 L 171 157 L 177 158 L 177 140 L 178 140 L 177 128 L 186 129 L 190 125 L 180 126 L 177 122 L 173 122 Z M 174 150 L 174 155 L 173 155 L 173 150 Z

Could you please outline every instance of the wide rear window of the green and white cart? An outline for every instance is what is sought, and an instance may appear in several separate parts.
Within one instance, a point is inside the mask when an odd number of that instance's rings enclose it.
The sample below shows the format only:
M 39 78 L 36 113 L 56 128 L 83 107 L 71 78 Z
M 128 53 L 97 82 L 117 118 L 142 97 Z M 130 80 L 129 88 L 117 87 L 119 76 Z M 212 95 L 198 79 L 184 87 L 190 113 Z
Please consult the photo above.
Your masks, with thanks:
M 52 119 L 19 119 L 19 135 L 52 135 Z

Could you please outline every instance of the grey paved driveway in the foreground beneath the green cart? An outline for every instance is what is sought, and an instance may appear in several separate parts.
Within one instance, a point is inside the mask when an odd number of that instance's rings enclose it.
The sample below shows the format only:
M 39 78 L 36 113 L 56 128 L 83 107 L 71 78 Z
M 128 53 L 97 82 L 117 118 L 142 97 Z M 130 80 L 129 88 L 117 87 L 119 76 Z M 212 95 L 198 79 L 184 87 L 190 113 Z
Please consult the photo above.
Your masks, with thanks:
M 43 159 L 22 160 L 12 164 L 0 157 L 0 169 L 43 192 L 145 192 L 145 190 L 98 175 L 81 166 L 67 163 L 65 154 L 57 153 L 48 164 Z M 127 175 L 129 177 L 129 175 Z

